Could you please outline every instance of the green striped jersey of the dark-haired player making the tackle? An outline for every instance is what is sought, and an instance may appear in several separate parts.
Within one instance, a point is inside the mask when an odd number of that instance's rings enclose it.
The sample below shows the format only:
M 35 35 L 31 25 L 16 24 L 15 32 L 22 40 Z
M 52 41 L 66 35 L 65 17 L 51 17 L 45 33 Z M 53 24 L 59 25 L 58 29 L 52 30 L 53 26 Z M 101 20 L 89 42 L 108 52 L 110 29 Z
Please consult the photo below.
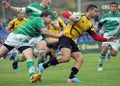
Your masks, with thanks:
M 16 29 L 14 34 L 22 34 L 29 37 L 43 36 L 40 29 L 46 28 L 41 17 L 35 17 Z M 47 36 L 44 36 L 46 38 Z

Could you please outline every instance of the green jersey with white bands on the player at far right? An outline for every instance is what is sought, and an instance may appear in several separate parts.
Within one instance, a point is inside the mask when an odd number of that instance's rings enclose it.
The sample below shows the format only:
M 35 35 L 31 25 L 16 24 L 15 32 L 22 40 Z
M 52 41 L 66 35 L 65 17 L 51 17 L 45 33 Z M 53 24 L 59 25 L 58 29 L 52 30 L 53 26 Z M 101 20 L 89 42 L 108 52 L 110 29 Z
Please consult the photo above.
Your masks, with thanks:
M 108 36 L 116 36 L 120 38 L 120 13 L 107 13 L 102 16 L 100 23 L 104 25 L 104 32 Z

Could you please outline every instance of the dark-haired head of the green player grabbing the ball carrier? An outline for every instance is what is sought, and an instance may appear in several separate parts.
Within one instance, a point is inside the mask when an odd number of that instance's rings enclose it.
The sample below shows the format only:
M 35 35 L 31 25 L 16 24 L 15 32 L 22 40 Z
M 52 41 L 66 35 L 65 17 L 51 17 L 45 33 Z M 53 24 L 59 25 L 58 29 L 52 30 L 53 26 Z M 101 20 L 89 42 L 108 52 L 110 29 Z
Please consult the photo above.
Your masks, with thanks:
M 43 18 L 45 24 L 49 24 L 52 21 L 52 14 L 51 12 L 45 10 L 40 14 L 40 17 Z

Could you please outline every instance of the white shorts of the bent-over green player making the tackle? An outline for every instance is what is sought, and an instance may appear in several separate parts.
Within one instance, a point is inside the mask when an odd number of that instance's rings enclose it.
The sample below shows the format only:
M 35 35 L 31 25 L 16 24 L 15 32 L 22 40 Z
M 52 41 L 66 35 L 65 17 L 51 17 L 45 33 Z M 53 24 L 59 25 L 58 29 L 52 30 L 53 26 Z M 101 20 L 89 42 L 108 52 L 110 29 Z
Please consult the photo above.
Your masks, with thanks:
M 30 39 L 31 37 L 29 36 L 11 33 L 10 35 L 8 35 L 7 39 L 5 40 L 5 44 L 18 49 L 19 47 L 22 46 L 31 46 L 29 44 Z

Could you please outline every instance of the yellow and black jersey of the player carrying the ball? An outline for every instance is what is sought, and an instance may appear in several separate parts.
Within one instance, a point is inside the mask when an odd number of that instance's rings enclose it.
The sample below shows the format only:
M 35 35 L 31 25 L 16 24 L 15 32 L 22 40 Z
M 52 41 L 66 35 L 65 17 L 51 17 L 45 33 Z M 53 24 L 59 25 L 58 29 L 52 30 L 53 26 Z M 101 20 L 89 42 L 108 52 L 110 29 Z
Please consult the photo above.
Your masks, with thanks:
M 74 13 L 73 13 L 74 15 Z M 74 16 L 79 17 L 79 20 L 77 23 L 67 24 L 64 29 L 64 35 L 71 38 L 73 41 L 75 41 L 76 38 L 81 36 L 83 32 L 86 32 L 87 30 L 95 30 L 93 23 L 90 19 L 85 16 L 84 13 L 75 13 Z

